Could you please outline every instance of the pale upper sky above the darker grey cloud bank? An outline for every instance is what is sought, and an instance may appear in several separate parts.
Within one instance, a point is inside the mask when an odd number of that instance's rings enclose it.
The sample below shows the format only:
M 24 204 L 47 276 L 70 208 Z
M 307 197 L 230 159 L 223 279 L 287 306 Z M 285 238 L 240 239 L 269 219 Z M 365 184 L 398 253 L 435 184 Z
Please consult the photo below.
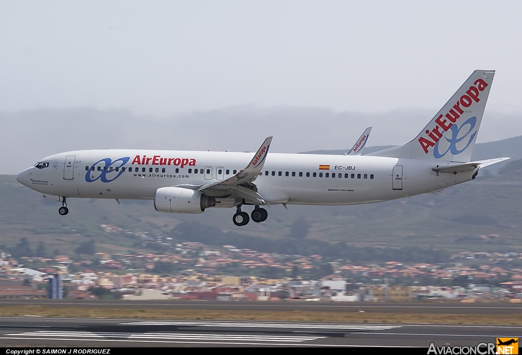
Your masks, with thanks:
M 0 2 L 0 111 L 438 109 L 474 69 L 522 110 L 516 1 Z M 520 132 L 522 134 L 522 132 Z

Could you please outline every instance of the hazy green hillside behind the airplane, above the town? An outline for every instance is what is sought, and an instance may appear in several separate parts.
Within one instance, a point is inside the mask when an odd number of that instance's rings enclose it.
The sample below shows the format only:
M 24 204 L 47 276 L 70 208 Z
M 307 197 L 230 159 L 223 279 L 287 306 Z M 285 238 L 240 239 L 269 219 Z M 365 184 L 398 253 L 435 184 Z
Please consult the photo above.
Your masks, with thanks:
M 516 156 L 511 154 L 516 144 L 493 143 L 500 151 L 491 153 L 494 156 Z M 484 151 L 495 147 L 486 144 L 490 146 Z M 477 145 L 477 155 L 481 146 Z M 122 200 L 118 205 L 114 200 L 70 199 L 70 212 L 62 217 L 57 213 L 58 202 L 18 184 L 13 175 L 0 175 L 0 249 L 27 237 L 34 244 L 43 240 L 50 250 L 72 251 L 82 242 L 96 240 L 98 249 L 125 252 L 144 248 L 143 236 L 147 235 L 174 240 L 182 235 L 183 240 L 189 240 L 215 234 L 216 238 L 242 236 L 253 245 L 267 239 L 299 244 L 306 237 L 353 246 L 522 251 L 520 187 L 522 160 L 512 159 L 498 174 L 484 169 L 477 179 L 435 195 L 357 206 L 288 206 L 288 210 L 272 206 L 266 222 L 236 227 L 231 221 L 232 209 L 168 214 L 155 211 L 152 201 Z M 104 232 L 101 224 L 124 231 Z M 144 234 L 136 235 L 139 232 Z

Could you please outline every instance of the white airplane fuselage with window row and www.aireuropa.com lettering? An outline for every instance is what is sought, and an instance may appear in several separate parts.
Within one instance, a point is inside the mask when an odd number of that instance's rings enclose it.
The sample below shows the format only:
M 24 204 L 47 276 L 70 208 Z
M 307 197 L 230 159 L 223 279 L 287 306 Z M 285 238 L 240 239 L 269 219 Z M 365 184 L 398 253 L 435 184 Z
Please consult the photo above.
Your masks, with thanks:
M 45 167 L 26 169 L 17 180 L 55 196 L 153 199 L 161 187 L 226 179 L 252 157 L 216 151 L 78 150 L 46 157 L 40 160 Z M 418 159 L 270 153 L 254 183 L 267 204 L 352 205 L 437 191 L 471 180 L 476 172 L 437 174 L 434 167 L 436 161 Z M 219 194 L 215 197 L 230 195 Z

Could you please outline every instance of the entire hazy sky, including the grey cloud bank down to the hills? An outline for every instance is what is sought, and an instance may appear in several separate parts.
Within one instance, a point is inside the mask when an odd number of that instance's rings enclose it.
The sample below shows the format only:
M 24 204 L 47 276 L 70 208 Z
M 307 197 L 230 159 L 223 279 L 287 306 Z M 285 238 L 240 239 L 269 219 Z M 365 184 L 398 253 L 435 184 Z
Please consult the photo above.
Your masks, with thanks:
M 0 173 L 91 148 L 411 140 L 476 69 L 478 142 L 522 135 L 522 2 L 2 1 Z M 16 149 L 14 149 L 16 147 Z

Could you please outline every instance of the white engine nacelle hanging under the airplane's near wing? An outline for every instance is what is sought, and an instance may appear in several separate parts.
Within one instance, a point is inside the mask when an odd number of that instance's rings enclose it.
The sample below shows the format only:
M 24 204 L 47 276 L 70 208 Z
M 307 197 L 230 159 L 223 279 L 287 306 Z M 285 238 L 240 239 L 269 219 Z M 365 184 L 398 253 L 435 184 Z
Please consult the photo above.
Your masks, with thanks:
M 215 198 L 189 188 L 161 187 L 154 194 L 154 208 L 158 212 L 201 213 L 214 206 Z

